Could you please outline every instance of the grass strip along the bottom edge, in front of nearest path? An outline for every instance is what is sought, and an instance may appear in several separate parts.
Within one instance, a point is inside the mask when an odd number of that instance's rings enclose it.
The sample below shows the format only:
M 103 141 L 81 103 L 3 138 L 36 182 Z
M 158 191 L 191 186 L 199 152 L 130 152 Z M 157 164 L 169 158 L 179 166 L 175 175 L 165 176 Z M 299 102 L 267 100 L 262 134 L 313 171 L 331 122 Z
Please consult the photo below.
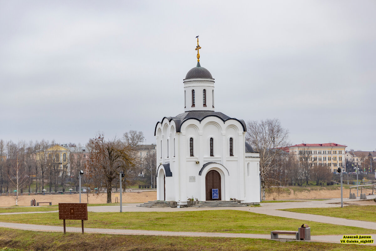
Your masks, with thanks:
M 264 239 L 221 237 L 132 236 L 115 234 L 47 233 L 0 228 L 0 251 L 371 251 L 373 246 L 320 242 L 277 242 Z

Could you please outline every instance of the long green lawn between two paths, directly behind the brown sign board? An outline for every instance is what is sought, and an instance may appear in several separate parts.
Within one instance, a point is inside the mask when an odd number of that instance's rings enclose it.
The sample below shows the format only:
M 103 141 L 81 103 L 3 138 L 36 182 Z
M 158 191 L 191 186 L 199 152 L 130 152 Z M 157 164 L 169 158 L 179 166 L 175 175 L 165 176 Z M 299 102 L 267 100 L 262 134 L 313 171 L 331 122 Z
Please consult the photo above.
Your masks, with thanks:
M 161 231 L 229 232 L 270 234 L 273 230 L 297 230 L 303 223 L 313 235 L 376 233 L 376 230 L 325 224 L 320 222 L 268 216 L 247 211 L 210 210 L 182 212 L 88 213 L 88 228 L 141 229 Z M 62 226 L 58 213 L 0 215 L 2 222 Z M 81 227 L 80 221 L 66 221 L 69 227 Z

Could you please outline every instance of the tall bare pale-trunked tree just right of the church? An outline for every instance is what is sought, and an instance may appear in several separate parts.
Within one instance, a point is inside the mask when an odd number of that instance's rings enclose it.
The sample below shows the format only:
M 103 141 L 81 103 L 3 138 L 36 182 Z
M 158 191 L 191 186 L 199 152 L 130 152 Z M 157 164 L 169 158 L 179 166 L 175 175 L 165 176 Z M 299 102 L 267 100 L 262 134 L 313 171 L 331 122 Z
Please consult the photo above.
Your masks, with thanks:
M 267 179 L 268 173 L 275 171 L 279 165 L 277 157 L 290 145 L 288 129 L 282 127 L 279 119 L 249 121 L 246 140 L 260 154 L 262 200 L 265 200 L 265 186 L 275 182 Z

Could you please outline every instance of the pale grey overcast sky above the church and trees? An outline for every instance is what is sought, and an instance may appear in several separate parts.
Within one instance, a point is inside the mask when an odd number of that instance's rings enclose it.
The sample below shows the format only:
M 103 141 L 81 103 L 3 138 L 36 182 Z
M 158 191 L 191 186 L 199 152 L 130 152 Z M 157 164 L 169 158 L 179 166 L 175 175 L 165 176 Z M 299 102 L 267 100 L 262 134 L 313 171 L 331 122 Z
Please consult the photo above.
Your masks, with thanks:
M 86 143 L 184 111 L 200 63 L 215 110 L 292 143 L 373 151 L 375 1 L 0 1 L 0 138 Z

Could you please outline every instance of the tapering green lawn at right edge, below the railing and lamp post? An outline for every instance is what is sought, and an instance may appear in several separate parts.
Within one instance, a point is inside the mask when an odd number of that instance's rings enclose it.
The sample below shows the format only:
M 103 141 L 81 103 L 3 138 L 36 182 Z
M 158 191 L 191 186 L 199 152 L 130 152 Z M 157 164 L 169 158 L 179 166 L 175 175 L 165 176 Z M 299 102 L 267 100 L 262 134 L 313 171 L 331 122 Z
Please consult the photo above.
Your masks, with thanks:
M 345 218 L 358 221 L 372 221 L 376 222 L 375 210 L 376 205 L 358 206 L 349 205 L 346 207 L 330 207 L 330 208 L 290 208 L 281 209 L 283 211 L 296 213 L 309 213 L 324 216 L 331 216 L 337 218 Z

